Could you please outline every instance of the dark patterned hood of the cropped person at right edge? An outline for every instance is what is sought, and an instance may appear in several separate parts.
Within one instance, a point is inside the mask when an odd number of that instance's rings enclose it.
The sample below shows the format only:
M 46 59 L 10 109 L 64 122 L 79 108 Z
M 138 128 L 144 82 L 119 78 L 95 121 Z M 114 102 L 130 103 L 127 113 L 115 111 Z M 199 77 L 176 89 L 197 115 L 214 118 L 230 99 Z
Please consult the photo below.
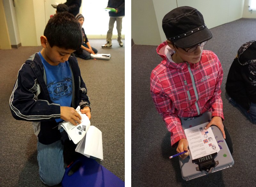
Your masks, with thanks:
M 247 65 L 256 62 L 256 40 L 244 43 L 237 51 L 239 64 Z

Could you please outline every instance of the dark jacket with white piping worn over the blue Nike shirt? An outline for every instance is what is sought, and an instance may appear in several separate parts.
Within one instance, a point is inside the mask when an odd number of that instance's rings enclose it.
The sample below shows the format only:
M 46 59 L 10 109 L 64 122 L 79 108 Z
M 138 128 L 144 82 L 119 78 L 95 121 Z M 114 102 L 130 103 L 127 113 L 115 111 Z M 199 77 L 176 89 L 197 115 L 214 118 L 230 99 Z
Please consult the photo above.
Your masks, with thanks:
M 87 89 L 81 77 L 77 60 L 68 59 L 73 94 L 71 106 L 90 104 Z M 20 68 L 10 97 L 10 109 L 16 120 L 33 121 L 34 131 L 42 144 L 60 140 L 60 131 L 54 119 L 60 118 L 60 105 L 52 103 L 46 87 L 46 76 L 41 58 L 32 55 Z

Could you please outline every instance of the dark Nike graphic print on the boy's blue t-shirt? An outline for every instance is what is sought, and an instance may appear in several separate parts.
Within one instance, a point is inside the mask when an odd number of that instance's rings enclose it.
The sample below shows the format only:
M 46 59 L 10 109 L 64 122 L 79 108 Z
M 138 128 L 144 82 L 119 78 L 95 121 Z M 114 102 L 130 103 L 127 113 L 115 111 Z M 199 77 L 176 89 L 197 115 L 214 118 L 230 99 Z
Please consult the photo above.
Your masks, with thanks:
M 65 77 L 60 82 L 49 82 L 47 89 L 52 101 L 58 101 L 61 97 L 69 97 L 72 95 L 72 79 Z

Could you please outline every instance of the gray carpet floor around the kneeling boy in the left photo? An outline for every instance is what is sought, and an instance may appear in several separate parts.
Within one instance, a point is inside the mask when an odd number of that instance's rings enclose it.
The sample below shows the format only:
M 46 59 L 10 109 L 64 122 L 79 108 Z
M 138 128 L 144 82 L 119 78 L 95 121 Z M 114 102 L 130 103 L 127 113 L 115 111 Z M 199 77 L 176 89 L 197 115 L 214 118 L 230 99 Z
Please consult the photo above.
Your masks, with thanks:
M 91 101 L 91 125 L 102 132 L 104 160 L 97 161 L 124 181 L 124 47 L 113 39 L 111 49 L 102 49 L 105 42 L 90 40 L 98 53 L 110 53 L 110 60 L 77 59 Z M 39 179 L 31 122 L 15 120 L 9 108 L 20 66 L 41 49 L 38 46 L 0 50 L 1 187 L 45 186 Z

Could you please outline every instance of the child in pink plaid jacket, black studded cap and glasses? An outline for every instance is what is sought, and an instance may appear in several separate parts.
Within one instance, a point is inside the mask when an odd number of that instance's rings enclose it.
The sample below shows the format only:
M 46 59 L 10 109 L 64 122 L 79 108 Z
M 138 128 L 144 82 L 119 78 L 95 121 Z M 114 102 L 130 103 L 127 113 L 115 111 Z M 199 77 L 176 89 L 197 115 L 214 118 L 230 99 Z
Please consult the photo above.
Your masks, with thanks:
M 151 73 L 151 97 L 157 112 L 171 133 L 171 145 L 177 152 L 188 151 L 188 140 L 180 118 L 199 116 L 207 111 L 212 120 L 205 129 L 216 125 L 230 153 L 233 144 L 223 125 L 221 99 L 223 70 L 219 58 L 203 46 L 212 38 L 203 15 L 195 8 L 182 6 L 168 12 L 162 21 L 167 40 L 156 51 L 163 58 Z M 185 159 L 189 152 L 180 155 Z

